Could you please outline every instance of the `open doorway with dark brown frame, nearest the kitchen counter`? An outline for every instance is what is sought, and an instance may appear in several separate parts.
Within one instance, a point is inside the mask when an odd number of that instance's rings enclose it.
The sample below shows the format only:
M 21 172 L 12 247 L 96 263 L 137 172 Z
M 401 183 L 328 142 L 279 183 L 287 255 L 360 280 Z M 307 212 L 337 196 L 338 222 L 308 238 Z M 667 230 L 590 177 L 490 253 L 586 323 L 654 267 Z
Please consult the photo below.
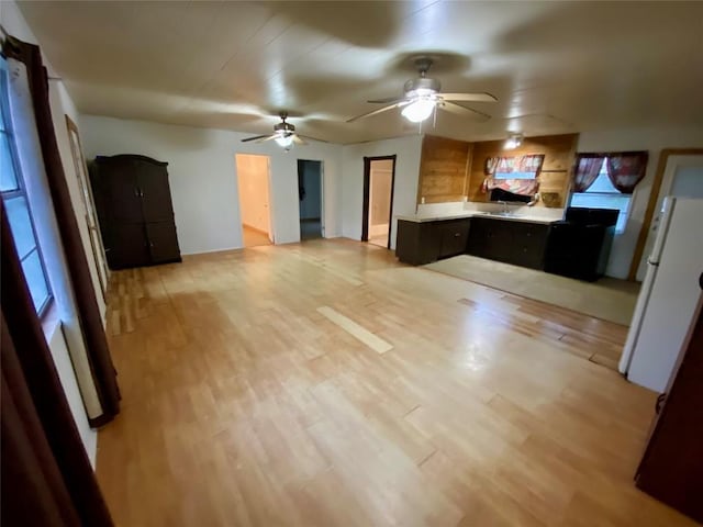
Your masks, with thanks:
M 391 248 L 395 156 L 364 158 L 361 242 Z

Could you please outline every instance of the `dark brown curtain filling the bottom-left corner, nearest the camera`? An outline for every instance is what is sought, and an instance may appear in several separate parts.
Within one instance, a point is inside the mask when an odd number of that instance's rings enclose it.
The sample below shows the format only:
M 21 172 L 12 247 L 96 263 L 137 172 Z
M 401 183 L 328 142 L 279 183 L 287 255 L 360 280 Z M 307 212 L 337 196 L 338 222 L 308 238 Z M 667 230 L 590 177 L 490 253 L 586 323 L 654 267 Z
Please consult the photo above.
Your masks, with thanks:
M 0 200 L 3 527 L 111 526 Z

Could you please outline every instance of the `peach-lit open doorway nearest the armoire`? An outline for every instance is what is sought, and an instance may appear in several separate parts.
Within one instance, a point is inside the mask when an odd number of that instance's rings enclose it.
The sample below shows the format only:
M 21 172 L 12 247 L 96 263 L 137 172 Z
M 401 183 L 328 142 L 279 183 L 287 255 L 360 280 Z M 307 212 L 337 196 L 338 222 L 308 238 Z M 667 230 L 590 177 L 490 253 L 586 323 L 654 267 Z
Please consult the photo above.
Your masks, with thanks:
M 237 154 L 239 217 L 245 247 L 271 245 L 270 171 L 268 156 Z

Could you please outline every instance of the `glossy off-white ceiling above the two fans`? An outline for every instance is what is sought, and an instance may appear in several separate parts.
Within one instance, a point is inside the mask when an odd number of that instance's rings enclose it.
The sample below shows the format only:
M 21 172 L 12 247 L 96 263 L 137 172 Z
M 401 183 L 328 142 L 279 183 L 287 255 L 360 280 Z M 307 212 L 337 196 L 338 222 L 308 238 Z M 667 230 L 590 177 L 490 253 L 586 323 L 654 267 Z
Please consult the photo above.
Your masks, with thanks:
M 355 143 L 417 132 L 365 101 L 431 53 L 443 90 L 488 91 L 461 139 L 703 125 L 703 2 L 19 2 L 83 113 Z M 520 115 L 526 115 L 518 117 Z M 513 119 L 514 117 L 514 119 Z

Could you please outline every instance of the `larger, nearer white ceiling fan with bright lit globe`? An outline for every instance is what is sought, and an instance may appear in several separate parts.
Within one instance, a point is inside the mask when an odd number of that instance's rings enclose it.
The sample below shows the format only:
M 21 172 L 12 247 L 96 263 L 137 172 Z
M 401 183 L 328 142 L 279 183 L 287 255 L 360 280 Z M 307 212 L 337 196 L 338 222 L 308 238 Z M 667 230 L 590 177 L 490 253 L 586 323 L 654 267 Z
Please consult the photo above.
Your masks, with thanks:
M 415 67 L 420 77 L 410 79 L 404 86 L 403 97 L 389 97 L 387 99 L 378 99 L 368 101 L 373 104 L 388 104 L 387 106 L 373 110 L 356 117 L 352 117 L 347 123 L 352 123 L 359 119 L 370 117 L 394 108 L 402 108 L 402 115 L 413 123 L 420 123 L 427 119 L 436 109 L 446 110 L 457 115 L 477 116 L 491 119 L 487 113 L 472 110 L 470 108 L 456 104 L 454 101 L 461 102 L 495 102 L 498 99 L 490 93 L 442 93 L 442 85 L 437 79 L 427 77 L 427 71 L 432 67 L 433 60 L 429 57 L 415 58 Z M 389 104 L 390 103 L 390 104 Z

